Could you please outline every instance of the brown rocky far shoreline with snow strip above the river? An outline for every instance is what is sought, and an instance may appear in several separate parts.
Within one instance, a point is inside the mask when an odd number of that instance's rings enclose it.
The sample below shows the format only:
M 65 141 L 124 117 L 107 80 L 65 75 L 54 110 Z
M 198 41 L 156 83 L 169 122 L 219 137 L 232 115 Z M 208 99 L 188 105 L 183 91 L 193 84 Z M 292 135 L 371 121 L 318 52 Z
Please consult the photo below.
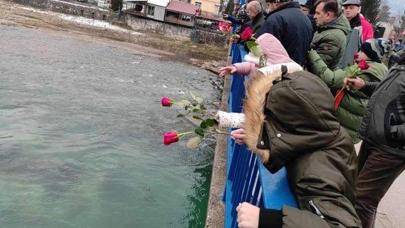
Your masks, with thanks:
M 136 54 L 184 62 L 218 73 L 227 62 L 227 49 L 178 41 L 146 30 L 131 30 L 122 23 L 106 23 L 0 0 L 0 25 L 23 26 L 90 39 L 128 49 Z

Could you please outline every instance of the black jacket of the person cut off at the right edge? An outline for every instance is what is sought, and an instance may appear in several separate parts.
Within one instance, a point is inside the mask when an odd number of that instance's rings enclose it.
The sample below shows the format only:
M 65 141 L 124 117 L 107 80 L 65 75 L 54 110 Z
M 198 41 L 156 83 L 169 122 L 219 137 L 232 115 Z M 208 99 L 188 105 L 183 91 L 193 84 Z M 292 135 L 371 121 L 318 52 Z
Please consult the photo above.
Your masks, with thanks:
M 367 84 L 370 93 L 375 84 Z M 367 105 L 360 137 L 386 152 L 405 157 L 405 64 L 391 68 L 373 90 Z

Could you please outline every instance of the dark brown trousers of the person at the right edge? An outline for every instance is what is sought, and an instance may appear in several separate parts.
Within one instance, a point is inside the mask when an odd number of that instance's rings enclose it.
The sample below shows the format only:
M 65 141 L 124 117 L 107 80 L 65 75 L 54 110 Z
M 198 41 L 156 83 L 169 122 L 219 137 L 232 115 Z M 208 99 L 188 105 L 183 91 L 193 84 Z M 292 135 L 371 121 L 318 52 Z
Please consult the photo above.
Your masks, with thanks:
M 405 169 L 405 159 L 363 141 L 358 154 L 356 212 L 362 228 L 374 227 L 378 204 Z

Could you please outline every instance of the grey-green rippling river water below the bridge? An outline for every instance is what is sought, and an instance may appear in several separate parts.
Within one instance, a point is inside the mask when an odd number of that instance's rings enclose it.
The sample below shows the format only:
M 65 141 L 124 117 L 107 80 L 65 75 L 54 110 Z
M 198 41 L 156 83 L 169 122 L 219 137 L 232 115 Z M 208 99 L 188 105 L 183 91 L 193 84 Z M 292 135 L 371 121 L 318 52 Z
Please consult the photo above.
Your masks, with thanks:
M 0 25 L 0 227 L 203 227 L 213 140 L 163 108 L 218 76 L 50 32 Z M 210 106 L 215 109 L 214 106 Z

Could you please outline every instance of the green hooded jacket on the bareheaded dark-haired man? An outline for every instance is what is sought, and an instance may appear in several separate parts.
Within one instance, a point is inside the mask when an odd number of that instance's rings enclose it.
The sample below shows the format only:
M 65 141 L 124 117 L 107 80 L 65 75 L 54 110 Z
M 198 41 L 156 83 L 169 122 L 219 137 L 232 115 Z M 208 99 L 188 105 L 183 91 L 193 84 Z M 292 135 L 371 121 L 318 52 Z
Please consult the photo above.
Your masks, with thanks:
M 311 48 L 314 49 L 329 69 L 335 70 L 345 53 L 346 36 L 351 28 L 343 14 L 331 23 L 321 25 L 312 38 Z

